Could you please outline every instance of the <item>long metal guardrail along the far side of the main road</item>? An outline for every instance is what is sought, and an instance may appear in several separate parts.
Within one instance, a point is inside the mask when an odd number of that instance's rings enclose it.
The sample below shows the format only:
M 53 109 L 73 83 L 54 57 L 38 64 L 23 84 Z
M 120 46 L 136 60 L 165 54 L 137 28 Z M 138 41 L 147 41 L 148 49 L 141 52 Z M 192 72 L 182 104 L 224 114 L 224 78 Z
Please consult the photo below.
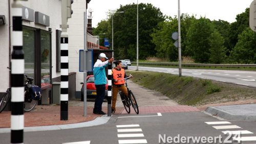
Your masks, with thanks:
M 132 64 L 136 64 L 136 62 L 132 62 Z M 178 66 L 179 63 L 172 62 L 139 62 L 142 65 L 172 65 Z M 203 66 L 203 67 L 256 67 L 256 64 L 201 64 L 201 63 L 182 63 L 182 66 Z

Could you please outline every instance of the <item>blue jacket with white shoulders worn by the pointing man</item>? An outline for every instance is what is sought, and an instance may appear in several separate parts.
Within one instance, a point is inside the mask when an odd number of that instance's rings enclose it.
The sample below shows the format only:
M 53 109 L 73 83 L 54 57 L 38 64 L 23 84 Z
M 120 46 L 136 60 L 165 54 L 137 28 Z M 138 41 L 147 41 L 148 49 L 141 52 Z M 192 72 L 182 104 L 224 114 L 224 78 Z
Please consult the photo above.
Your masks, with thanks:
M 106 72 L 105 67 L 108 65 L 109 61 L 102 62 L 101 60 L 97 60 L 93 66 L 93 75 L 94 75 L 94 84 L 106 84 Z

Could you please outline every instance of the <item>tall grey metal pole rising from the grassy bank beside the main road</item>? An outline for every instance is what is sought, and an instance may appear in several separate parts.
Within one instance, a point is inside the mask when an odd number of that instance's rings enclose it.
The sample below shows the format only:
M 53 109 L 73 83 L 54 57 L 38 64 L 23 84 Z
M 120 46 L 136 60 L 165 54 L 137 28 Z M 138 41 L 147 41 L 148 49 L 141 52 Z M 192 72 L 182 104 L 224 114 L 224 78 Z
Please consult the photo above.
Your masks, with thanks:
M 179 53 L 179 77 L 181 77 L 181 34 L 180 34 L 180 0 L 178 0 L 178 53 Z

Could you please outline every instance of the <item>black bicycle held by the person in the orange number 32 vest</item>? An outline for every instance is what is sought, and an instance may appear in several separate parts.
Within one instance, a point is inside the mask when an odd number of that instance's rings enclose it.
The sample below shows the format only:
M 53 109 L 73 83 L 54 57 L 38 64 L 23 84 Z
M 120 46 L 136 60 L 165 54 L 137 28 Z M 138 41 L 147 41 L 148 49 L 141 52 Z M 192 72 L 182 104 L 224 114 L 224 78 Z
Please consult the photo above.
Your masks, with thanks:
M 121 80 L 125 80 L 125 86 L 127 87 L 128 97 L 126 97 L 126 95 L 122 91 L 120 91 L 120 90 L 118 91 L 118 93 L 119 93 L 119 95 L 121 97 L 121 100 L 122 100 L 122 103 L 123 103 L 123 106 L 124 106 L 124 109 L 126 110 L 126 112 L 130 113 L 131 112 L 130 106 L 132 106 L 134 111 L 137 114 L 139 114 L 139 107 L 138 107 L 137 101 L 135 99 L 135 96 L 134 96 L 132 90 L 130 90 L 128 85 L 127 85 L 127 79 L 129 79 L 131 77 L 132 76 L 130 75 L 130 77 L 121 79 Z M 118 81 L 121 81 L 121 80 L 118 80 Z

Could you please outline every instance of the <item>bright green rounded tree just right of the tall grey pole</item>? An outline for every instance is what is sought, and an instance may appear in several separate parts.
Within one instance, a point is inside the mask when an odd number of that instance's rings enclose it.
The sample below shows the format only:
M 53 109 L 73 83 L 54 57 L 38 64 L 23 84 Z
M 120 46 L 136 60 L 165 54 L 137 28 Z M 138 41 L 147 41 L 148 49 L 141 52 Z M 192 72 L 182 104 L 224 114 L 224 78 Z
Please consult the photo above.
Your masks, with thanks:
M 196 62 L 207 63 L 210 58 L 209 36 L 214 31 L 211 21 L 205 17 L 194 20 L 187 32 L 187 48 Z

